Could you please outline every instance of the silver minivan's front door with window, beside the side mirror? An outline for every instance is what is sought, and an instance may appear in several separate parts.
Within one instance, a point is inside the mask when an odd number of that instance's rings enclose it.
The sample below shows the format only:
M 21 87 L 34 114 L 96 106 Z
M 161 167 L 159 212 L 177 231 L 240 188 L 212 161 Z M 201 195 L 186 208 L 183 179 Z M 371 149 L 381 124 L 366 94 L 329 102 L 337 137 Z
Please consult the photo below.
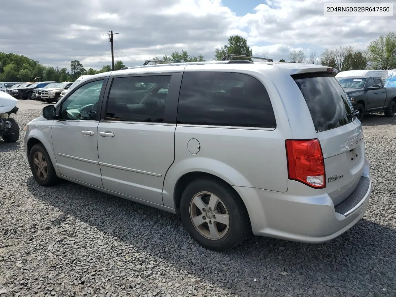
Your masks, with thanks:
M 73 90 L 52 125 L 52 145 L 62 176 L 103 188 L 97 151 L 96 109 L 103 79 Z

